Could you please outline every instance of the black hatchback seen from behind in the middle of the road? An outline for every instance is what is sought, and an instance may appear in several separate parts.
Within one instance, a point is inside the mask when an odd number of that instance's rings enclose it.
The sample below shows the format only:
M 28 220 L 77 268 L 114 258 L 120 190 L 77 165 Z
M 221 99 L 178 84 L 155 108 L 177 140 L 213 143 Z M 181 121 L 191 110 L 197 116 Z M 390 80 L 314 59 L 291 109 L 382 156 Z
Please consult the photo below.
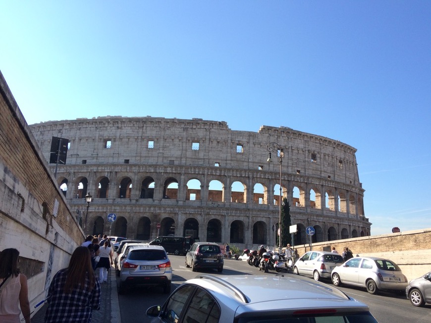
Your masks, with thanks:
M 198 269 L 214 268 L 223 271 L 223 254 L 214 242 L 195 242 L 186 254 L 186 267 L 194 272 Z

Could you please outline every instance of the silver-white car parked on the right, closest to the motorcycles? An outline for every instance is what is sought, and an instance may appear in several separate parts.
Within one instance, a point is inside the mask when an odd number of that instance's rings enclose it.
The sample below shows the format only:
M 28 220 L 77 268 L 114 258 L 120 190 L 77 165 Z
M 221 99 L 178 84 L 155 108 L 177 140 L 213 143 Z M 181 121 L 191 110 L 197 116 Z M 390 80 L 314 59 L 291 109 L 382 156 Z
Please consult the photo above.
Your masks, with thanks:
M 309 251 L 293 265 L 293 274 L 313 277 L 315 280 L 330 278 L 332 270 L 344 262 L 337 253 Z

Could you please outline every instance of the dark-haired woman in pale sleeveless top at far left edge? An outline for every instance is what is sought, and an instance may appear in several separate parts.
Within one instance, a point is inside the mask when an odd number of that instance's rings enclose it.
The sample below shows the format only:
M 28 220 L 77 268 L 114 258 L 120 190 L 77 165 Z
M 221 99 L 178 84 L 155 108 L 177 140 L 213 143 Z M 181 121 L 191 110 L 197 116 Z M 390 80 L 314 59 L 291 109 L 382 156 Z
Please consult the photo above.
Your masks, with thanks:
M 20 323 L 22 311 L 25 323 L 30 323 L 27 277 L 19 273 L 19 251 L 13 248 L 0 253 L 0 322 Z M 21 310 L 18 308 L 18 303 Z

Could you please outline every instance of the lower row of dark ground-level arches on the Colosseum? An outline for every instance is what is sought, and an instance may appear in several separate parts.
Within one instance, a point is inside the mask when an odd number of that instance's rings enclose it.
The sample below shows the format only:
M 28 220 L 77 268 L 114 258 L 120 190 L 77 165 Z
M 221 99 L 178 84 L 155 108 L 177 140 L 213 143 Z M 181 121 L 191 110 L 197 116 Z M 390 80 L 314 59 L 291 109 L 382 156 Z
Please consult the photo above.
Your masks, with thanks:
M 229 242 L 232 244 L 245 244 L 247 245 L 271 245 L 273 243 L 274 235 L 269 230 L 269 226 L 264 221 L 257 221 L 252 226 L 252 231 L 249 232 L 245 223 L 241 220 L 234 220 L 229 225 L 227 230 L 223 230 L 223 224 L 219 219 L 213 218 L 206 224 L 200 225 L 199 221 L 195 218 L 188 218 L 184 221 L 182 227 L 177 228 L 176 221 L 171 217 L 165 217 L 160 222 L 160 229 L 156 228 L 156 224 L 152 223 L 150 218 L 141 217 L 137 221 L 137 225 L 128 227 L 129 221 L 119 216 L 113 224 L 112 235 L 124 236 L 140 240 L 152 240 L 159 235 L 181 235 L 193 236 L 200 238 L 202 241 L 224 243 Z M 101 216 L 93 218 L 93 232 L 92 234 L 103 234 L 106 232 L 105 220 Z M 294 235 L 295 245 L 309 243 L 309 237 L 306 234 L 306 226 L 304 224 L 297 224 L 298 231 Z M 202 230 L 203 229 L 203 230 Z M 327 230 L 319 225 L 315 225 L 316 233 L 312 236 L 312 242 L 333 241 L 338 239 L 347 239 L 350 237 L 365 236 L 367 232 L 364 230 L 358 231 L 353 229 L 351 232 L 347 228 L 341 228 L 340 231 L 334 226 L 329 226 Z M 326 235 L 326 236 L 325 236 Z

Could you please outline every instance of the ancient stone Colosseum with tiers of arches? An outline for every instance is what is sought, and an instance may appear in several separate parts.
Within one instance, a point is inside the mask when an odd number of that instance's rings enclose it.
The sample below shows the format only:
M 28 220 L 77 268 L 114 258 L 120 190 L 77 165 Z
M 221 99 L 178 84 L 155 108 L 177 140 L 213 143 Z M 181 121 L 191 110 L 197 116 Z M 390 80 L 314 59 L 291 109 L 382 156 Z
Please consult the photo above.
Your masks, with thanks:
M 67 139 L 65 163 L 50 167 L 90 234 L 274 245 L 281 193 L 297 225 L 295 245 L 308 243 L 309 226 L 314 242 L 370 235 L 356 149 L 338 140 L 287 127 L 234 131 L 226 122 L 149 116 L 30 128 L 47 162 L 54 137 Z

